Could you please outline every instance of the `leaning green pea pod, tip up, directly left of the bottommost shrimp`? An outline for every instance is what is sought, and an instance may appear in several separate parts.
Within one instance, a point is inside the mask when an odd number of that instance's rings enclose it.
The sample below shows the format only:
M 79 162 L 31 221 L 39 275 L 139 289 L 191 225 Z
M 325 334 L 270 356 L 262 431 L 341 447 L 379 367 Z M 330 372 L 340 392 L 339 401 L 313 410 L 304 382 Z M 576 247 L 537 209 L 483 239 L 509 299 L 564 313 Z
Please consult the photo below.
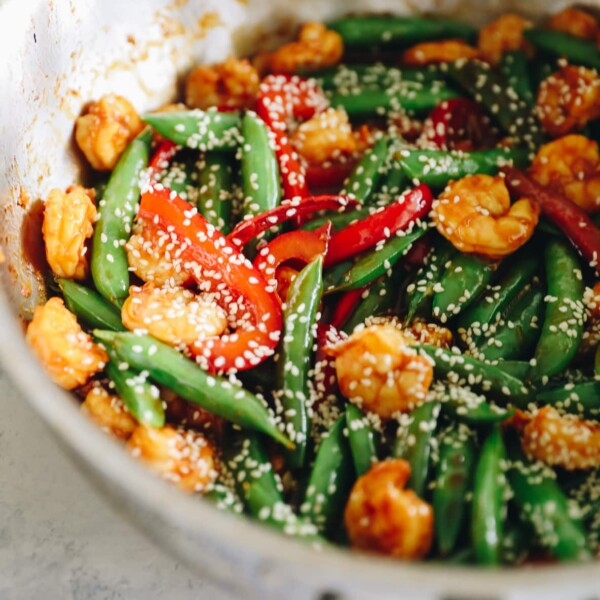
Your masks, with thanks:
M 346 505 L 355 479 L 345 427 L 346 416 L 343 414 L 321 441 L 300 507 L 300 513 L 325 537 L 336 533 L 343 514 L 340 507 Z

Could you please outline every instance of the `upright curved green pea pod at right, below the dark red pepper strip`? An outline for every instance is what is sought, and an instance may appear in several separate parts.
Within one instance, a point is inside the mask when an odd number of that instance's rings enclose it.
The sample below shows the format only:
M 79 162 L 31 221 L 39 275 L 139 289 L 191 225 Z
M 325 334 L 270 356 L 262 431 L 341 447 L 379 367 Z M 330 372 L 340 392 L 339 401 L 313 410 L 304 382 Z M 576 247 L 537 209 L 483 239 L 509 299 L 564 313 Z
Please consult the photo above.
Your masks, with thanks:
M 535 349 L 532 381 L 566 369 L 581 343 L 585 310 L 583 277 L 575 250 L 566 240 L 552 238 L 544 251 L 548 295 L 546 313 Z

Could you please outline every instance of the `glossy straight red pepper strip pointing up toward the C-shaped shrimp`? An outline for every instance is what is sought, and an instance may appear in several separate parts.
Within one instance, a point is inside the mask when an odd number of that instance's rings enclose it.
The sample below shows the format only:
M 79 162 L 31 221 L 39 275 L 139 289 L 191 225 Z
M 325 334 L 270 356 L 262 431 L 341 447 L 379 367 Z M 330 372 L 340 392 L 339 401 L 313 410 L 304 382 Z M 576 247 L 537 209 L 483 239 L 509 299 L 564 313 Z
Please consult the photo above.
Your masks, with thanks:
M 337 231 L 331 237 L 325 266 L 336 265 L 406 229 L 430 211 L 432 202 L 431 190 L 421 184 L 381 210 Z

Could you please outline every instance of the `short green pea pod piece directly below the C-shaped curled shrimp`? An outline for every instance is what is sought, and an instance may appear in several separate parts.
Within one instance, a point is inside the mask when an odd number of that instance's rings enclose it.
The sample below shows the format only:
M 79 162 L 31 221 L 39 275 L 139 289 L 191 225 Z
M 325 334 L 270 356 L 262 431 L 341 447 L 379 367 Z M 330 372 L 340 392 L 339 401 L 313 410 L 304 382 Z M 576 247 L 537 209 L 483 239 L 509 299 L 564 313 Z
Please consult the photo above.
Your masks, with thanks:
M 497 262 L 474 254 L 456 254 L 433 295 L 433 315 L 445 323 L 465 310 L 485 291 L 497 270 Z

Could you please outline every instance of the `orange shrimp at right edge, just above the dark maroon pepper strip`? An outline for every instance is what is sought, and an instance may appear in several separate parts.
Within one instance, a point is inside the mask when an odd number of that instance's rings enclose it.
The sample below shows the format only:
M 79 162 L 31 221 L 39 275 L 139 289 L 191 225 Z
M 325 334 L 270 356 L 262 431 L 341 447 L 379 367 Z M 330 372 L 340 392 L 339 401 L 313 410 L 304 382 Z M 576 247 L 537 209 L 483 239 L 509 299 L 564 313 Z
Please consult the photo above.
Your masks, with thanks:
M 538 183 L 555 187 L 586 212 L 600 210 L 600 154 L 593 140 L 572 134 L 544 144 L 529 172 Z

